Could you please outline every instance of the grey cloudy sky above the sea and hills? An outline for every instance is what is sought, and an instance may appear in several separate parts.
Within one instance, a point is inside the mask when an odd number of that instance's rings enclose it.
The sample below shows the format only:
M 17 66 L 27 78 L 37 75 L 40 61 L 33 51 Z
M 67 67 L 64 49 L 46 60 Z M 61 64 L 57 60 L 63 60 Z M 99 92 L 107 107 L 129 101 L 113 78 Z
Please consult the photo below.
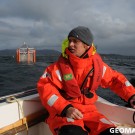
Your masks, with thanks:
M 61 50 L 79 25 L 91 29 L 99 53 L 135 55 L 135 0 L 0 0 L 0 50 L 23 42 Z

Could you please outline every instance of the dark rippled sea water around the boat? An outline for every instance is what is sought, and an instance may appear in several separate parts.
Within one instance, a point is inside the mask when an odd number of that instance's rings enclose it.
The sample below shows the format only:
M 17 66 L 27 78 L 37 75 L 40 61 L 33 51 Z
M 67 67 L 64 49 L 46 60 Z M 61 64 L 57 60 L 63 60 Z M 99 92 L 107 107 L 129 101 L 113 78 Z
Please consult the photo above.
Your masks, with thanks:
M 114 70 L 123 73 L 128 80 L 135 78 L 135 56 L 101 55 Z M 0 56 L 0 97 L 36 88 L 45 68 L 58 56 L 37 56 L 36 63 L 17 63 L 14 56 Z M 109 89 L 99 88 L 97 94 L 120 105 L 126 103 Z

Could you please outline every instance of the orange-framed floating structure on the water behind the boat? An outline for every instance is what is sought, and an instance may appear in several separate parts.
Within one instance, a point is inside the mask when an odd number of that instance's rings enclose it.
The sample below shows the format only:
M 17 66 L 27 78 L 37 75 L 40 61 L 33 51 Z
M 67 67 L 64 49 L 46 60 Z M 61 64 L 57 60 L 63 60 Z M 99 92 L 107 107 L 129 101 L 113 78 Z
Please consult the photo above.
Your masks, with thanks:
M 16 60 L 18 63 L 35 63 L 36 50 L 34 48 L 28 47 L 28 45 L 26 45 L 26 43 L 24 42 L 24 44 L 16 50 Z

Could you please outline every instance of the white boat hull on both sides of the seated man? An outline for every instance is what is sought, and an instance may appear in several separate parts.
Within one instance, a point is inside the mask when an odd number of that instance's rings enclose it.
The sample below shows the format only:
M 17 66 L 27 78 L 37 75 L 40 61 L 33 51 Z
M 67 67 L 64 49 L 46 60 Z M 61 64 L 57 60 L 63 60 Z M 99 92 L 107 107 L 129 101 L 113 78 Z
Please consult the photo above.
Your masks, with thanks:
M 118 128 L 134 129 L 134 109 L 112 104 L 100 97 L 96 106 Z M 28 131 L 29 135 L 52 135 L 48 125 L 41 120 L 43 118 L 40 118 L 42 115 L 47 115 L 44 111 L 38 94 L 14 100 L 12 103 L 0 103 L 0 134 L 5 135 L 8 132 L 15 134 L 16 131 L 17 135 L 26 135 Z M 24 128 L 24 131 L 21 131 L 21 128 Z M 129 134 L 133 135 L 135 132 Z

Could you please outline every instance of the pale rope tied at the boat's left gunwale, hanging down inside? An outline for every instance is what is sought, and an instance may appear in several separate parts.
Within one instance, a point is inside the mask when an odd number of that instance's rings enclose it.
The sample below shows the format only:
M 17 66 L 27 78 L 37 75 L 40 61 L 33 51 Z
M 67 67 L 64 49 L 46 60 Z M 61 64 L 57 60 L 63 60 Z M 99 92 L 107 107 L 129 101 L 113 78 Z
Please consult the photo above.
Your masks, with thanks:
M 23 109 L 22 109 L 22 107 L 21 107 L 21 105 L 20 105 L 19 100 L 18 100 L 16 97 L 11 96 L 11 97 L 8 97 L 8 98 L 6 99 L 6 102 L 7 102 L 7 103 L 16 102 L 16 103 L 18 104 L 18 107 L 19 107 L 19 109 L 20 109 L 20 111 L 21 111 L 21 113 L 22 113 L 22 116 L 23 116 L 22 121 L 25 123 L 26 131 L 27 131 L 26 133 L 27 133 L 27 135 L 28 135 L 28 130 L 29 130 L 29 128 L 28 128 L 28 123 L 27 123 L 27 120 L 24 119 L 24 118 L 25 118 L 24 112 L 23 112 Z M 19 112 L 20 112 L 20 111 L 19 111 Z M 21 118 L 20 118 L 20 113 L 19 113 L 19 119 L 21 119 Z M 25 121 L 24 121 L 24 120 L 25 120 Z M 15 132 L 16 132 L 16 134 L 17 134 L 16 128 L 15 128 Z

